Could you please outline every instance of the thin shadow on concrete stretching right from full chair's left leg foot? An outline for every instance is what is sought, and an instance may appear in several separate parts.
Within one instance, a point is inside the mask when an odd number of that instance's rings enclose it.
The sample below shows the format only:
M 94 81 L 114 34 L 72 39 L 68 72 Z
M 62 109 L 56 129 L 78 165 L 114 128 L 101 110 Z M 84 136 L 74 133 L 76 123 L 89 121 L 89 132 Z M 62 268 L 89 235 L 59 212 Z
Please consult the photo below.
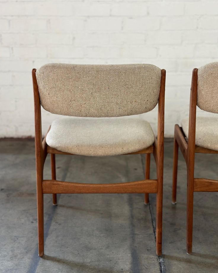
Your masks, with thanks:
M 42 257 L 42 259 L 44 260 L 48 260 L 48 261 L 52 261 L 55 263 L 60 263 L 62 265 L 67 265 L 70 267 L 70 269 L 75 270 L 78 269 L 79 272 L 92 272 L 92 273 L 129 273 L 128 271 L 125 271 L 123 269 L 120 269 L 119 271 L 114 271 L 113 268 L 102 268 L 102 267 L 97 267 L 97 266 L 93 266 L 90 264 L 85 264 L 85 263 L 81 263 L 81 262 L 75 262 L 75 261 L 69 261 L 67 259 L 64 258 L 58 258 L 58 257 L 54 257 L 54 256 L 49 256 L 49 255 L 44 255 Z M 74 271 L 73 271 L 74 272 Z

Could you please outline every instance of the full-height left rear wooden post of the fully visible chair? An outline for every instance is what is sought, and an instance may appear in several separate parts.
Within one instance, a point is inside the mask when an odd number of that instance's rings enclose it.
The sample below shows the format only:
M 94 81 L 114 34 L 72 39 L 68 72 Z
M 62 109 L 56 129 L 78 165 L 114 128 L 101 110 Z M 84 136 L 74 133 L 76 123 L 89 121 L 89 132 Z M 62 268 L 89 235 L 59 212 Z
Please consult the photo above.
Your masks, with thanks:
M 44 154 L 42 148 L 42 127 L 41 127 L 41 104 L 39 98 L 39 90 L 36 80 L 36 69 L 32 70 L 33 77 L 33 94 L 35 109 L 35 146 L 36 146 L 36 186 L 37 186 L 37 215 L 38 215 L 38 243 L 39 256 L 44 255 L 44 202 L 43 202 L 43 166 Z

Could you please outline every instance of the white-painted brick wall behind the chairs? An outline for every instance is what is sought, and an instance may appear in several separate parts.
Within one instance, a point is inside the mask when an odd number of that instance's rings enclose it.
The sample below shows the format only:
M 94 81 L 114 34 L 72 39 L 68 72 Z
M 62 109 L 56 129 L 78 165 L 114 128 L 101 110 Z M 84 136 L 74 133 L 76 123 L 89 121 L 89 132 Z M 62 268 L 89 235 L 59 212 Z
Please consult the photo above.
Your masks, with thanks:
M 1 0 L 0 59 L 0 137 L 34 135 L 31 70 L 48 62 L 166 69 L 165 135 L 173 136 L 188 116 L 192 69 L 218 60 L 218 1 Z M 54 118 L 42 110 L 44 133 Z M 156 131 L 157 108 L 140 118 Z

